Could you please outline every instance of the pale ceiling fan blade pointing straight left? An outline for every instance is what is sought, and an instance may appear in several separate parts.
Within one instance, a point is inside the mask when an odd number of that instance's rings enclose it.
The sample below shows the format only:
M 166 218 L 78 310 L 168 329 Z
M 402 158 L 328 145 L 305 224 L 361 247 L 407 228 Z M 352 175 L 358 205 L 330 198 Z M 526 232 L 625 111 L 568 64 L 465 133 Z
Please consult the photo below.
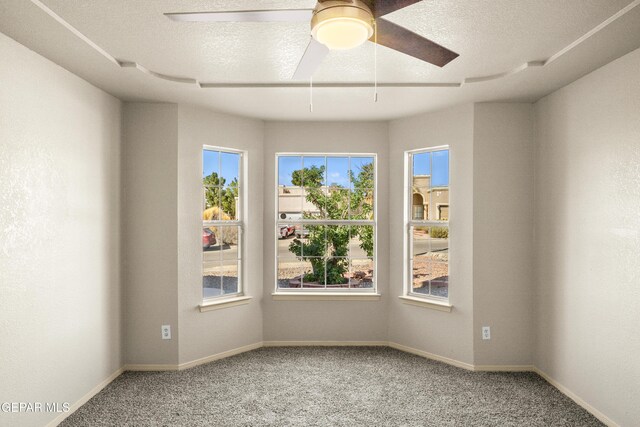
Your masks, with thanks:
M 179 22 L 299 22 L 309 21 L 313 9 L 232 10 L 228 12 L 176 12 L 164 16 Z

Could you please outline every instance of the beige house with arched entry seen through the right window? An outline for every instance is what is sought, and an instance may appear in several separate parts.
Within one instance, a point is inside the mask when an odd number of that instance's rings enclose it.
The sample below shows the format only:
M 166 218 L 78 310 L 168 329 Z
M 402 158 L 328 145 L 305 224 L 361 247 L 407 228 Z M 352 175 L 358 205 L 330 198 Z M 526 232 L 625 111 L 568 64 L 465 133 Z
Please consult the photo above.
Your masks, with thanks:
M 449 220 L 449 187 L 431 187 L 431 175 L 415 175 L 411 189 L 411 219 Z

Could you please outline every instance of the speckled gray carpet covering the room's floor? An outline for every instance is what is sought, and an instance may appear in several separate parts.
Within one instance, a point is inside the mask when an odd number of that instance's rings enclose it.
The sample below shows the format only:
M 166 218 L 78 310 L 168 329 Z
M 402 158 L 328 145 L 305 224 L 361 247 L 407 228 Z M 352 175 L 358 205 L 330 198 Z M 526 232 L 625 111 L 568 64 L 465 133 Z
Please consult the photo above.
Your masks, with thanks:
M 532 373 L 468 372 L 383 347 L 289 347 L 124 373 L 62 425 L 602 424 Z

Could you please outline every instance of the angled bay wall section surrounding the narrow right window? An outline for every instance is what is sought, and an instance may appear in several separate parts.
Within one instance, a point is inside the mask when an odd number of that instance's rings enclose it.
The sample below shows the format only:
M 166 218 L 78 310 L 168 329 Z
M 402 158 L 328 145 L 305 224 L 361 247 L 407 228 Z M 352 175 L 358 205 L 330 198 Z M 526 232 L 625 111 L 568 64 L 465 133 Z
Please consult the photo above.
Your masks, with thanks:
M 449 145 L 451 313 L 401 303 L 404 152 Z M 473 105 L 394 120 L 389 125 L 389 340 L 473 363 Z

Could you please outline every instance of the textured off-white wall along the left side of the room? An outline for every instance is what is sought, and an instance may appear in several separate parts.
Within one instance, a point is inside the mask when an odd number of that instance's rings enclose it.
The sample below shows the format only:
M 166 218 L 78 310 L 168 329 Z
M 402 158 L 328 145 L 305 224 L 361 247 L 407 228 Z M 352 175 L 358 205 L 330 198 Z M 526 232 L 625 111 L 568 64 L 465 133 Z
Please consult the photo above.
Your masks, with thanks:
M 122 366 L 120 102 L 2 34 L 0 57 L 0 402 L 74 403 Z

